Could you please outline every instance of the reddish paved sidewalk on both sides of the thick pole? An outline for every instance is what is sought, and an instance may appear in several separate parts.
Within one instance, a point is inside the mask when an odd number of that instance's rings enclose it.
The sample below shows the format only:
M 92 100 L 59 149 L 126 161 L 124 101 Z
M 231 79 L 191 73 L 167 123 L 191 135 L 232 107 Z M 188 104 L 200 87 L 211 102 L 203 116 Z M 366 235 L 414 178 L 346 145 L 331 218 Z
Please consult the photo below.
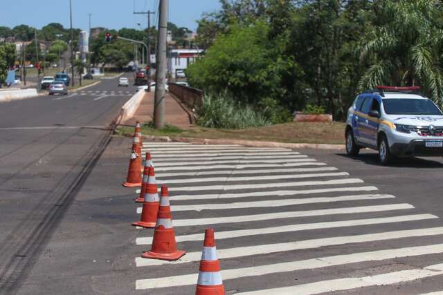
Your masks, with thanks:
M 123 124 L 134 125 L 136 121 L 150 122 L 154 113 L 154 92 L 147 92 L 145 97 L 138 106 L 134 117 L 129 120 L 125 120 Z M 190 129 L 192 124 L 188 113 L 183 110 L 177 100 L 166 93 L 165 96 L 165 123 L 177 126 L 181 129 Z

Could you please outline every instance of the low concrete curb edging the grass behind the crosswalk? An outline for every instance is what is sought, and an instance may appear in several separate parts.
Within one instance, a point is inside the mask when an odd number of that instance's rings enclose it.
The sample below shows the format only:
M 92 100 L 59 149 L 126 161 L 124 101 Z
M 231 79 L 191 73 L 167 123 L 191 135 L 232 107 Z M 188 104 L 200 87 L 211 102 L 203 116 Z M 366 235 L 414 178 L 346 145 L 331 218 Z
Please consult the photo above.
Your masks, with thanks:
M 188 137 L 175 137 L 171 138 L 169 136 L 154 136 L 154 135 L 143 135 L 144 138 L 152 141 L 161 142 L 188 142 L 192 144 L 239 144 L 242 146 L 251 147 L 275 147 L 275 148 L 287 148 L 287 149 L 345 149 L 344 144 L 293 144 L 286 142 L 263 142 L 257 140 L 211 140 L 208 138 L 188 138 Z

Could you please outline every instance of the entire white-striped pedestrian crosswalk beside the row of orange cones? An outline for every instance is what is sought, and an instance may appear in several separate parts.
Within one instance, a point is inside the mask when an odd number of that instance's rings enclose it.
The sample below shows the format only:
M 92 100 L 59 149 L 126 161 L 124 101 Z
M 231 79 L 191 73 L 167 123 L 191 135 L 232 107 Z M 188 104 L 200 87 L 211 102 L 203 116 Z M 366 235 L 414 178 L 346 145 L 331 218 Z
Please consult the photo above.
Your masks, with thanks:
M 137 290 L 195 293 L 204 229 L 213 227 L 226 294 L 390 294 L 386 286 L 398 284 L 441 294 L 422 283 L 443 278 L 440 217 L 347 171 L 281 148 L 145 142 L 145 151 L 170 189 L 187 254 L 135 257 Z M 140 230 L 134 247 L 149 250 L 152 235 Z

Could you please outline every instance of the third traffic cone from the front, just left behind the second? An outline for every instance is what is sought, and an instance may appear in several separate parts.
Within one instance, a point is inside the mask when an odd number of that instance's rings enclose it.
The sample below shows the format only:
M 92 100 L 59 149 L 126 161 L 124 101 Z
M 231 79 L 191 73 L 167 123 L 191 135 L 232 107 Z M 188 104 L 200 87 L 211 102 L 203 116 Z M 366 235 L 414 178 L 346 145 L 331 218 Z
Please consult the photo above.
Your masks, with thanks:
M 148 168 L 148 183 L 146 184 L 145 200 L 141 211 L 140 221 L 132 223 L 134 227 L 154 228 L 159 212 L 159 192 L 155 184 L 154 167 Z M 149 178 L 154 177 L 154 183 L 150 183 Z

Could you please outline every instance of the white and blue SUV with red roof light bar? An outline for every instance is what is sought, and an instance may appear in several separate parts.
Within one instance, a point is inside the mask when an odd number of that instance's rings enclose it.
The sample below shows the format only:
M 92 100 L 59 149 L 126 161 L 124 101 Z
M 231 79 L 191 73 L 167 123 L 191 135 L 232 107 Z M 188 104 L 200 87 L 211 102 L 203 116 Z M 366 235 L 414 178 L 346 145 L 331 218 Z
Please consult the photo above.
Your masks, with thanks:
M 377 86 L 347 111 L 346 152 L 377 149 L 381 164 L 395 156 L 443 155 L 443 113 L 418 86 Z

